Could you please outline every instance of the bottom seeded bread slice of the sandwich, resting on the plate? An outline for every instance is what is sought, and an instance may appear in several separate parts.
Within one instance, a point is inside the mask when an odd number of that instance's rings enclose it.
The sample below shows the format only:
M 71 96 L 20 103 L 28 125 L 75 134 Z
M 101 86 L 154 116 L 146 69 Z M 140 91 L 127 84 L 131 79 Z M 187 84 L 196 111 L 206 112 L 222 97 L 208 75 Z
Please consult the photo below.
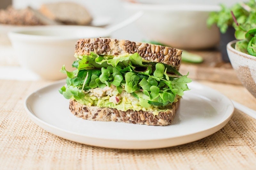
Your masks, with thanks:
M 109 107 L 96 107 L 82 105 L 75 100 L 69 101 L 70 111 L 77 117 L 92 121 L 114 121 L 146 125 L 168 125 L 173 121 L 179 102 L 172 103 L 170 108 L 153 115 L 152 111 L 121 111 Z

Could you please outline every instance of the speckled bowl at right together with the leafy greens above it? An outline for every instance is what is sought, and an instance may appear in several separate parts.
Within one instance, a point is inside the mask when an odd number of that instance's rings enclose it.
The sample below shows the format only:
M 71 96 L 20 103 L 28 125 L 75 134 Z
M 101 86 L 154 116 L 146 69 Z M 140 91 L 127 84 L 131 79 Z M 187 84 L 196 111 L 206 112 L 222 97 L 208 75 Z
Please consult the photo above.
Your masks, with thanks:
M 232 23 L 236 37 L 235 41 L 227 44 L 228 58 L 242 84 L 256 97 L 256 2 L 250 0 L 237 3 L 232 8 L 223 6 L 223 10 L 229 12 L 230 15 L 226 13 L 227 15 L 223 15 L 223 18 L 218 18 L 219 22 L 221 19 L 225 22 L 222 20 L 223 25 L 218 23 L 217 25 L 223 32 Z M 230 16 L 232 22 L 230 22 Z M 211 21 L 211 18 L 209 20 Z

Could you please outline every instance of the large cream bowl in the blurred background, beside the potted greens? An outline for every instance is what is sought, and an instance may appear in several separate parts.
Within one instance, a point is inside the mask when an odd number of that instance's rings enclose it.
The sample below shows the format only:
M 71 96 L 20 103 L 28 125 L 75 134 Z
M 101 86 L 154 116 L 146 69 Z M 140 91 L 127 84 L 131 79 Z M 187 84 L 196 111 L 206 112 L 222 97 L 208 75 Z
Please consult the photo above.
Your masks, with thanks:
M 181 49 L 212 48 L 220 41 L 217 26 L 206 25 L 218 5 L 124 3 L 124 7 L 144 12 L 136 23 L 150 40 Z

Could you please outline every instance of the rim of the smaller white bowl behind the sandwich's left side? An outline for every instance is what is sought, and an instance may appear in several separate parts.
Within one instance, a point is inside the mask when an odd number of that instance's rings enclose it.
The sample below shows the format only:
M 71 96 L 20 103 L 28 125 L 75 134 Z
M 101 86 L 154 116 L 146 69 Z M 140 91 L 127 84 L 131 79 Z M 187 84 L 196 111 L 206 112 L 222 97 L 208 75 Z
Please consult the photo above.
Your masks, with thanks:
M 54 36 L 54 35 L 35 35 L 35 34 L 27 34 L 27 33 L 22 33 L 25 31 L 51 31 L 51 30 L 70 30 L 72 31 L 77 31 L 77 29 L 95 29 L 96 32 L 100 32 L 95 34 L 95 37 L 109 37 L 110 34 L 106 31 L 106 28 L 101 28 L 101 27 L 94 27 L 94 26 L 29 26 L 29 27 L 24 27 L 24 28 L 15 28 L 12 31 L 8 32 L 8 37 L 10 39 L 24 39 L 24 40 L 37 40 L 37 41 L 60 41 L 60 40 L 78 40 L 80 38 L 94 38 L 94 37 L 82 37 L 82 36 L 77 36 L 77 35 L 70 35 L 70 36 Z

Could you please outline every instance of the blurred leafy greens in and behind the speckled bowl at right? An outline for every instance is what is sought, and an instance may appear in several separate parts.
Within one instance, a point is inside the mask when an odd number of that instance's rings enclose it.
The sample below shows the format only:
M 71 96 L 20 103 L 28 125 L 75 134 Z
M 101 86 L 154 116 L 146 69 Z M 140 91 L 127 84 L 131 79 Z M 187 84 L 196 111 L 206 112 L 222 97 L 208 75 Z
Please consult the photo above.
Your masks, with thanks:
M 219 12 L 212 12 L 207 19 L 207 25 L 216 24 L 221 33 L 227 31 L 228 26 L 235 28 L 237 40 L 235 49 L 243 53 L 256 56 L 256 2 L 250 0 L 227 8 L 221 5 Z

